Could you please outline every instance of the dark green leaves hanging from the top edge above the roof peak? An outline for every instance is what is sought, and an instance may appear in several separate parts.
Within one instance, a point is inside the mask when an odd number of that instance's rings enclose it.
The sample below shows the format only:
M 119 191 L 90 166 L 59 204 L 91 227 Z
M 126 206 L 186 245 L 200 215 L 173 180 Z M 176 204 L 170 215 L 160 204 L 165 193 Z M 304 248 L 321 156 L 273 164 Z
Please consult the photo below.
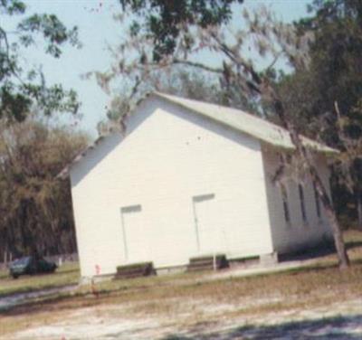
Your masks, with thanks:
M 123 10 L 129 9 L 132 14 L 141 17 L 130 24 L 131 36 L 141 31 L 147 33 L 154 43 L 153 60 L 160 61 L 164 55 L 175 52 L 176 39 L 183 31 L 183 43 L 190 49 L 194 39 L 189 31 L 192 25 L 206 28 L 227 24 L 232 16 L 231 5 L 242 4 L 243 0 L 119 0 Z M 141 56 L 144 59 L 146 56 Z

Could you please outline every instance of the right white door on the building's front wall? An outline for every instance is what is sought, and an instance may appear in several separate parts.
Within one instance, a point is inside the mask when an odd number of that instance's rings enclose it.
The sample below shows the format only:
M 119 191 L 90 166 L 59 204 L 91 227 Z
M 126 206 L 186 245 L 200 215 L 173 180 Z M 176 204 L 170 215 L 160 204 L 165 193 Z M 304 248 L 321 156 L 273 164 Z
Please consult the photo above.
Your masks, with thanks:
M 222 246 L 221 226 L 214 220 L 216 204 L 214 194 L 193 197 L 195 214 L 196 246 L 200 255 L 220 252 Z

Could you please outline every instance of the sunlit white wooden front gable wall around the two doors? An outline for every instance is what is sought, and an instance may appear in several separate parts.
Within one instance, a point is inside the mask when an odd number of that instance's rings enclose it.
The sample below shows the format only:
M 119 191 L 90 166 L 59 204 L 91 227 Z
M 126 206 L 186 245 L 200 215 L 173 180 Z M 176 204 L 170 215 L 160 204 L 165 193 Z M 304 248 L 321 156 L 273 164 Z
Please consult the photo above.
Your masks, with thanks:
M 128 127 L 125 139 L 105 138 L 71 170 L 82 276 L 128 262 L 120 209 L 138 204 L 148 260 L 186 264 L 199 254 L 193 205 L 203 194 L 214 194 L 207 220 L 222 234 L 220 251 L 272 251 L 259 141 L 160 99 L 141 104 Z

